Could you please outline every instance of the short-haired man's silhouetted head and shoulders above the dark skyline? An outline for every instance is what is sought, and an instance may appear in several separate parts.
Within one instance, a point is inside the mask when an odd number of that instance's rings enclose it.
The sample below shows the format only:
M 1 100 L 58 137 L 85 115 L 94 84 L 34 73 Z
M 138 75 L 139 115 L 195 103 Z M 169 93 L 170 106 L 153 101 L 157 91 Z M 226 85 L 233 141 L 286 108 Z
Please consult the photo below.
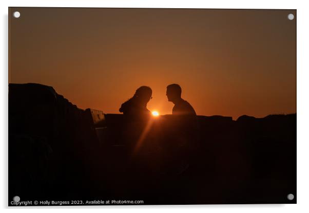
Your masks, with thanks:
M 181 87 L 176 84 L 170 84 L 166 89 L 166 96 L 168 101 L 173 102 L 173 115 L 197 115 L 191 104 L 181 98 Z

